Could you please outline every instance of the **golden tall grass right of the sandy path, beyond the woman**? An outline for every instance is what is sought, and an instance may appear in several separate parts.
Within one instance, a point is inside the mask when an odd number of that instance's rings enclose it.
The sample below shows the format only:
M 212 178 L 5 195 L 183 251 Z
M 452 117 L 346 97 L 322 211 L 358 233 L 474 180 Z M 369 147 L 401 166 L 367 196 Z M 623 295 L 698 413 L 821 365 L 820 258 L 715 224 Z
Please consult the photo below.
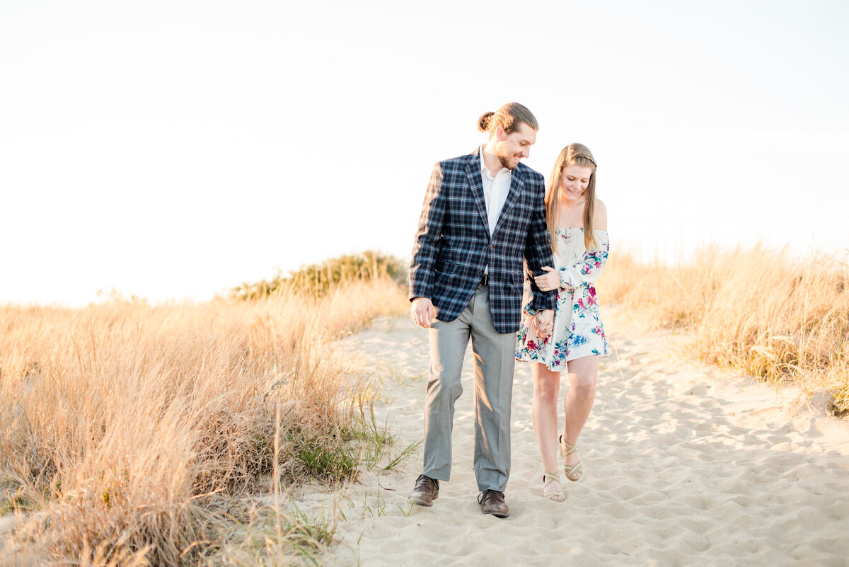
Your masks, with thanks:
M 693 331 L 694 352 L 706 362 L 827 391 L 832 411 L 849 411 L 845 258 L 708 245 L 666 266 L 624 252 L 610 256 L 599 289 L 650 326 Z

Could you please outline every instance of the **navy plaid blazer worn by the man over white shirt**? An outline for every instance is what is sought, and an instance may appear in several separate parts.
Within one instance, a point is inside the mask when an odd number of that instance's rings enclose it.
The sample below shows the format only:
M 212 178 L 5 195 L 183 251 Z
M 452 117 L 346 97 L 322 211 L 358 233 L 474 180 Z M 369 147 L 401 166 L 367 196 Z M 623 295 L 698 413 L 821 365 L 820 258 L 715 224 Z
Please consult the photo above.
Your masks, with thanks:
M 543 176 L 520 163 L 513 170 L 507 200 L 494 233 L 489 233 L 481 181 L 480 149 L 440 161 L 424 195 L 410 262 L 410 300 L 428 297 L 436 318 L 453 321 L 475 294 L 489 266 L 489 303 L 498 333 L 519 330 L 528 271 L 554 267 L 545 222 Z M 554 309 L 556 290 L 542 292 L 531 278 L 535 309 Z

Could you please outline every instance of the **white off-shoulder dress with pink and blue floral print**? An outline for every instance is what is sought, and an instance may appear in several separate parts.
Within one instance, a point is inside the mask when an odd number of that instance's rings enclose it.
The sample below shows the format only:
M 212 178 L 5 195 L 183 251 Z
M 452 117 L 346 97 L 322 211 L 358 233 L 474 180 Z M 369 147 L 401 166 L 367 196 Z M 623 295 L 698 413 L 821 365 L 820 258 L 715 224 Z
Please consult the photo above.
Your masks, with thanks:
M 604 230 L 595 231 L 598 248 L 584 247 L 583 228 L 555 230 L 558 246 L 554 250 L 554 268 L 560 275 L 554 332 L 539 339 L 533 328 L 535 310 L 531 283 L 525 280 L 525 307 L 516 340 L 516 360 L 540 362 L 549 370 L 564 370 L 566 362 L 582 356 L 608 356 L 610 349 L 601 324 L 599 298 L 593 282 L 599 278 L 610 251 L 610 238 Z

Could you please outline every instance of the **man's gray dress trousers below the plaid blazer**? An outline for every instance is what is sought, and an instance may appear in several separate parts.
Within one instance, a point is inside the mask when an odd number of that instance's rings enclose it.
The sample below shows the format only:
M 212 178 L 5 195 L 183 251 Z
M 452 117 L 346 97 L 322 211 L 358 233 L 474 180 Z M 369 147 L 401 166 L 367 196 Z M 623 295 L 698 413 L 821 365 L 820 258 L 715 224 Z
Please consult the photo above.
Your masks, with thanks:
M 478 287 L 459 317 L 434 321 L 430 328 L 422 472 L 437 480 L 451 476 L 454 402 L 463 393 L 460 373 L 469 337 L 475 353 L 475 479 L 480 491 L 504 491 L 510 474 L 516 334 L 495 330 L 486 286 Z

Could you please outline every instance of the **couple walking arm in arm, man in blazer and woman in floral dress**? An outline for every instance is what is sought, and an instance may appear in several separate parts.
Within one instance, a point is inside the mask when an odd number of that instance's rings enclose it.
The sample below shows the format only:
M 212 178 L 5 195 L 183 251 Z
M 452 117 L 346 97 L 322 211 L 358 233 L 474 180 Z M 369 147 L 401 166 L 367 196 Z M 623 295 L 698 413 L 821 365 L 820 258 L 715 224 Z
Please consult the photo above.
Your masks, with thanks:
M 488 133 L 486 143 L 434 166 L 413 245 L 411 316 L 429 329 L 430 371 L 424 469 L 410 499 L 432 506 L 439 481 L 450 478 L 454 403 L 463 391 L 460 373 L 470 338 L 478 502 L 484 514 L 506 518 L 516 360 L 531 362 L 543 496 L 565 499 L 558 446 L 565 477 L 581 478 L 576 442 L 593 407 L 599 356 L 608 354 L 593 281 L 609 242 L 589 149 L 566 146 L 545 188 L 543 176 L 520 163 L 539 129 L 529 109 L 505 104 L 482 115 L 478 128 Z M 570 389 L 560 431 L 564 370 Z

